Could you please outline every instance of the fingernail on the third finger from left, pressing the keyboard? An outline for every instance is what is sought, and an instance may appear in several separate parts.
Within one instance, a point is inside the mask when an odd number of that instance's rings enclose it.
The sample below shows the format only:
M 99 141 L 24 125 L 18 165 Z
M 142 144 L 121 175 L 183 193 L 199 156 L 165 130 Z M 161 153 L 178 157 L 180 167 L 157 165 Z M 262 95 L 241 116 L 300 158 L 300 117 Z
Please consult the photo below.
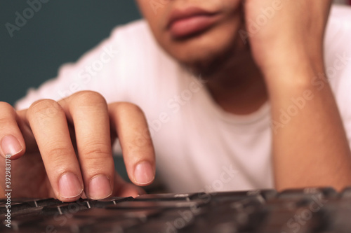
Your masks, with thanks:
M 110 180 L 105 175 L 91 178 L 88 187 L 88 196 L 91 199 L 104 199 L 112 194 Z

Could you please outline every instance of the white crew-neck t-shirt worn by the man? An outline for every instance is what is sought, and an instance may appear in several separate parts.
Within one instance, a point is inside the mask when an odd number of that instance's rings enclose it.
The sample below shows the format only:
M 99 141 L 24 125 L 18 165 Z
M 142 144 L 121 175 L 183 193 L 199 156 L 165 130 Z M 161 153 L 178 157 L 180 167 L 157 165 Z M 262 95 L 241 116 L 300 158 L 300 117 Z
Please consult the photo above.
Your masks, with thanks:
M 333 6 L 326 69 L 349 141 L 350 42 L 351 8 Z M 314 85 L 323 83 L 315 80 Z M 197 78 L 159 47 L 144 20 L 114 29 L 76 64 L 62 66 L 58 78 L 29 90 L 16 107 L 79 90 L 95 90 L 107 102 L 130 101 L 143 108 L 159 177 L 171 192 L 274 188 L 270 104 L 250 115 L 226 113 Z

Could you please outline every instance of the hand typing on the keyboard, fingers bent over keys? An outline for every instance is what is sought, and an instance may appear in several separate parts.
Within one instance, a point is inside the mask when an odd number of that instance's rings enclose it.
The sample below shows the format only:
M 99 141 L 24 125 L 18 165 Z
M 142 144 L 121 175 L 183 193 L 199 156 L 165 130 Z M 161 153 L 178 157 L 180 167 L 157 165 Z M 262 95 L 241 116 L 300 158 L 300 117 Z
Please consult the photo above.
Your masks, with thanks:
M 1 189 L 4 157 L 11 156 L 13 197 L 55 197 L 71 202 L 83 195 L 136 196 L 135 185 L 154 179 L 154 148 L 143 111 L 128 103 L 107 105 L 96 92 L 77 92 L 61 101 L 40 100 L 24 111 L 0 103 Z M 118 135 L 128 184 L 114 171 L 112 142 Z

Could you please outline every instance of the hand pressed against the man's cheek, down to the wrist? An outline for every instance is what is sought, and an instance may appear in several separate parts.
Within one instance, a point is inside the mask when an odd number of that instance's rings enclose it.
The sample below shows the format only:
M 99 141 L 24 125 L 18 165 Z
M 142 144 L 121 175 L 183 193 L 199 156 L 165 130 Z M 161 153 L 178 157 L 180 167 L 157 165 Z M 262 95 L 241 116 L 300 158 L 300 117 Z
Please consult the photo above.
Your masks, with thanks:
M 330 6 L 331 0 L 246 0 L 251 52 L 263 72 L 294 59 L 312 60 L 311 65 L 323 62 Z

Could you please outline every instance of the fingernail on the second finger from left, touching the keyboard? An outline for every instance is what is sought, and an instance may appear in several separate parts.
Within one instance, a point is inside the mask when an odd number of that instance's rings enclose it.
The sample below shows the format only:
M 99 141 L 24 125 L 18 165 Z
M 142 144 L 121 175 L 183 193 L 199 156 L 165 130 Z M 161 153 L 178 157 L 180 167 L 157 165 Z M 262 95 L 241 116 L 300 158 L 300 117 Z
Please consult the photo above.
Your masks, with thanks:
M 58 189 L 60 196 L 64 198 L 78 197 L 83 192 L 83 186 L 79 178 L 72 172 L 67 172 L 61 176 L 60 181 L 58 181 Z

